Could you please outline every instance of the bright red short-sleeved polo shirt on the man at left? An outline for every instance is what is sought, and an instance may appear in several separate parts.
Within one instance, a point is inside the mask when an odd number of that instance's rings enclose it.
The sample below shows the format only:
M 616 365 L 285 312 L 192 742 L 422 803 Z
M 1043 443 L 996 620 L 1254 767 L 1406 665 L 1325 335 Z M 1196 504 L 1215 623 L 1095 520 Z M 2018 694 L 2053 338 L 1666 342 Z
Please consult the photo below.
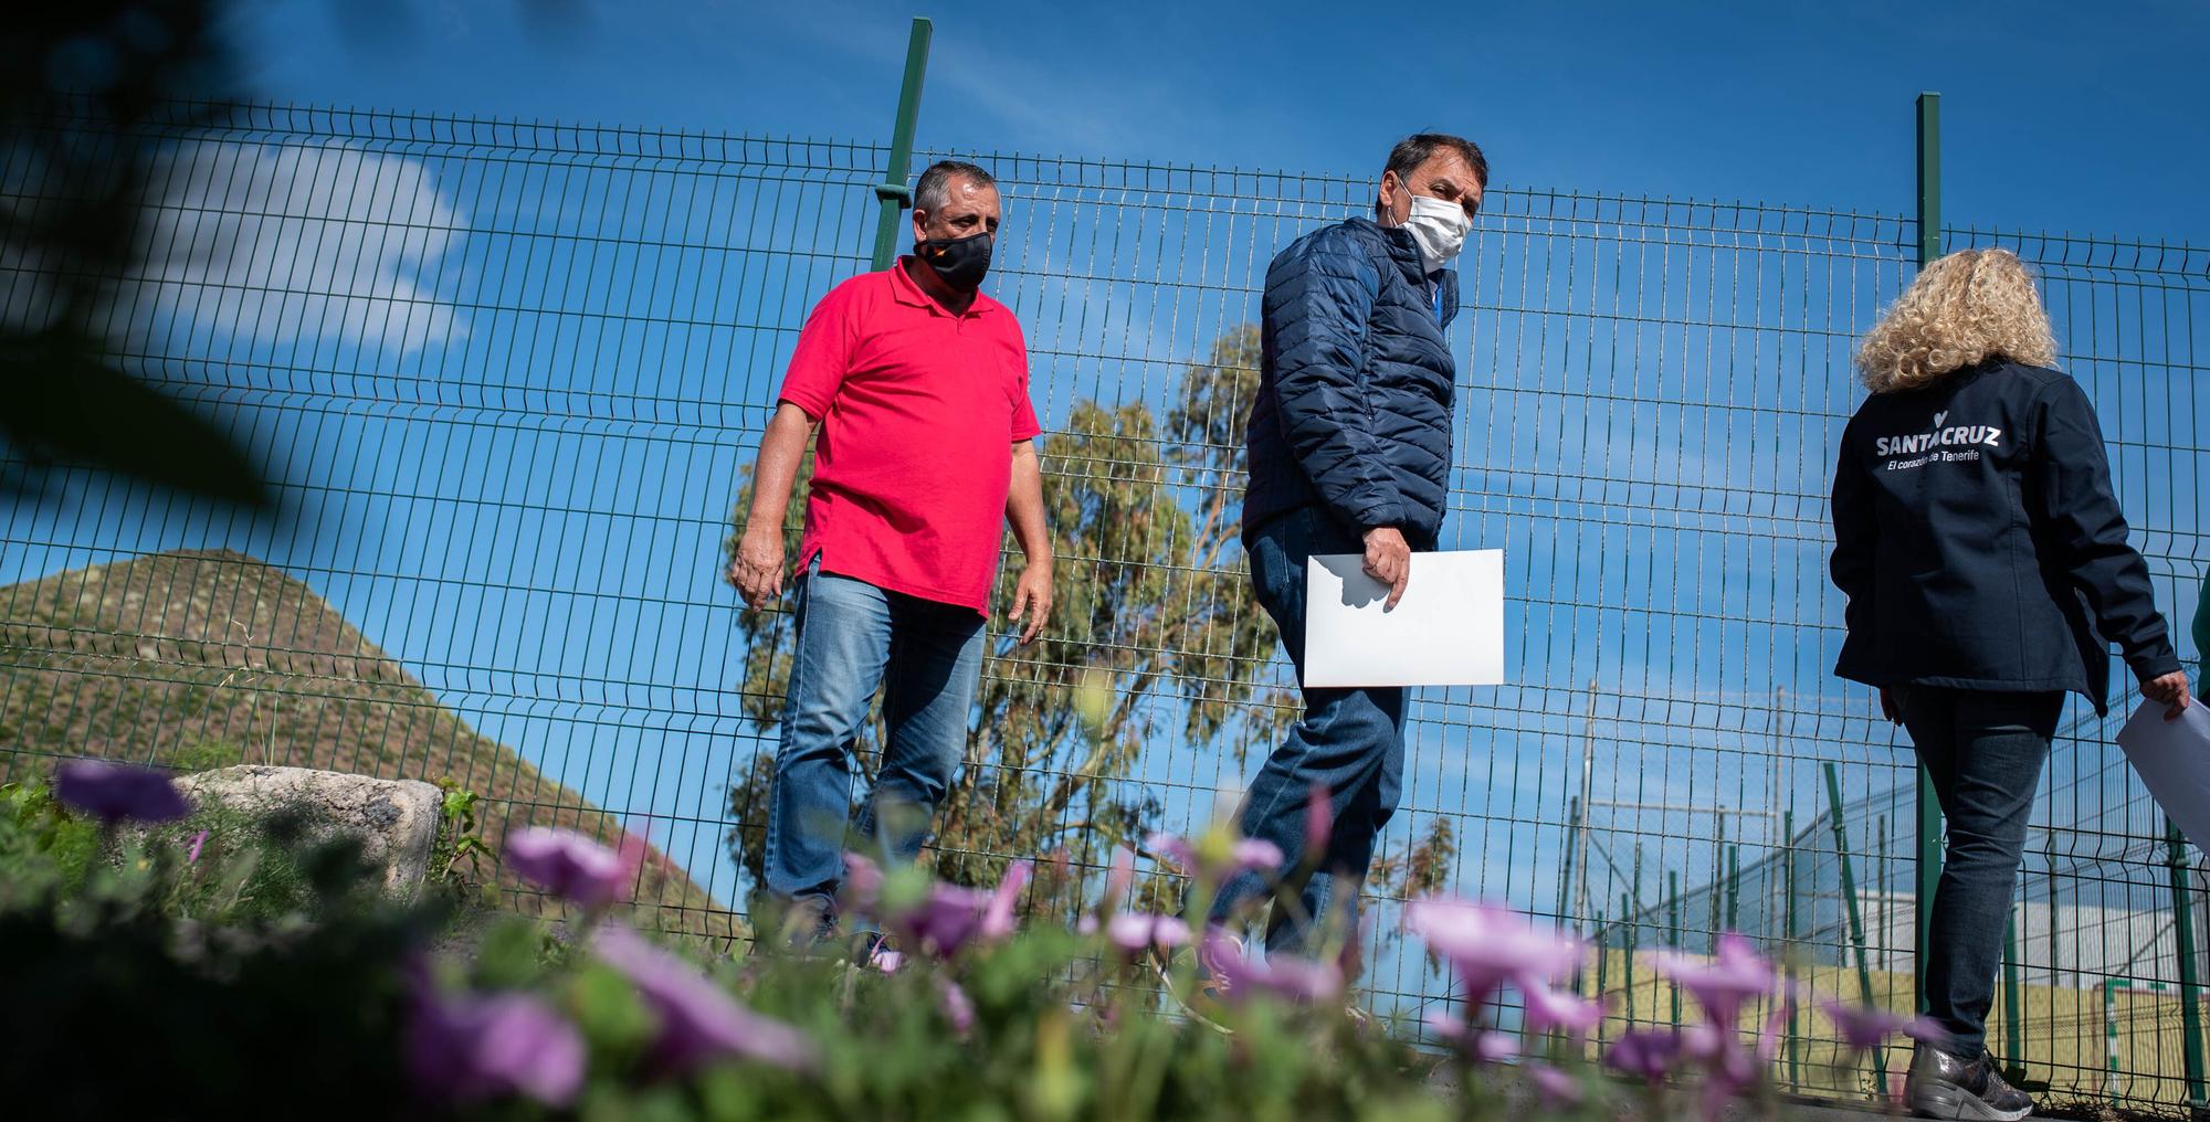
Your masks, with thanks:
M 953 316 L 904 261 L 853 276 L 807 318 L 782 400 L 820 420 L 798 568 L 988 614 L 1012 444 L 1039 431 L 1012 311 L 977 294 Z

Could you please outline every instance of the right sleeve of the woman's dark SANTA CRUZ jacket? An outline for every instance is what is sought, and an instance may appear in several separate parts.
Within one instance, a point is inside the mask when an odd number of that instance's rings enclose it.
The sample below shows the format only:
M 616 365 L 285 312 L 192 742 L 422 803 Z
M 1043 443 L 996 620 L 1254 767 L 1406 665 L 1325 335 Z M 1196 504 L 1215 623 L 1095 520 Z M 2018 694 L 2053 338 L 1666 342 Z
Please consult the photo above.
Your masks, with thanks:
M 2042 543 L 2073 588 L 2086 594 L 2095 632 L 2117 643 L 2135 678 L 2179 669 L 2170 629 L 2157 612 L 2148 561 L 2126 543 L 2126 515 L 2111 493 L 2111 459 L 2102 424 L 2080 382 L 2060 378 L 2042 393 L 2027 466 L 2040 508 Z

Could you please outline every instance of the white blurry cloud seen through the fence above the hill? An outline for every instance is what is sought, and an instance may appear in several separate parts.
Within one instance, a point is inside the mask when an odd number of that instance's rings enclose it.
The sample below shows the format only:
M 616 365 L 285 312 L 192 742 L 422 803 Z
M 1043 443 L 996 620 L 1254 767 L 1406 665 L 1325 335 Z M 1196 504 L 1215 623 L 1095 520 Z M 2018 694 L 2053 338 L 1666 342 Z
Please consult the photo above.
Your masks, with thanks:
M 152 168 L 141 292 L 234 338 L 411 353 L 466 334 L 431 278 L 466 219 L 418 159 L 192 141 Z

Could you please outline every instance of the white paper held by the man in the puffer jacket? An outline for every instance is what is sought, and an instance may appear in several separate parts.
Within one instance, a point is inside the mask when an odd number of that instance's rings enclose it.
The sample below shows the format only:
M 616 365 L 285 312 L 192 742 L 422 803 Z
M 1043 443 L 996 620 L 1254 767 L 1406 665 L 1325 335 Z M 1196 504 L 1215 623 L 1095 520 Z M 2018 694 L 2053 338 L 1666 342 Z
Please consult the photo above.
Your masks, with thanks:
M 1306 565 L 1304 685 L 1503 685 L 1505 552 L 1417 552 L 1397 607 L 1361 554 Z

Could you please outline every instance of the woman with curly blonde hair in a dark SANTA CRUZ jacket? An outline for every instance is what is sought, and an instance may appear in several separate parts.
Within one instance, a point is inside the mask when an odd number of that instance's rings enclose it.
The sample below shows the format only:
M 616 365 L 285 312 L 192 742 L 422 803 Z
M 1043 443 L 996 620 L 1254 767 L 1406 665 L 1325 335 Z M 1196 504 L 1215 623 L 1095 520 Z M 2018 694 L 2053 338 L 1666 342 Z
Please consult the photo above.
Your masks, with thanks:
M 1920 1045 L 1907 1080 L 1932 1118 L 2033 1111 L 1996 1076 L 1985 1018 L 2064 694 L 2106 711 L 2115 643 L 2144 696 L 2170 718 L 2188 705 L 2095 411 L 2051 362 L 2024 265 L 1949 254 L 1865 336 L 1872 395 L 1834 468 L 1834 583 L 1850 599 L 1834 671 L 1881 691 L 1949 822 L 1927 961 L 1927 1012 L 1949 1040 Z

